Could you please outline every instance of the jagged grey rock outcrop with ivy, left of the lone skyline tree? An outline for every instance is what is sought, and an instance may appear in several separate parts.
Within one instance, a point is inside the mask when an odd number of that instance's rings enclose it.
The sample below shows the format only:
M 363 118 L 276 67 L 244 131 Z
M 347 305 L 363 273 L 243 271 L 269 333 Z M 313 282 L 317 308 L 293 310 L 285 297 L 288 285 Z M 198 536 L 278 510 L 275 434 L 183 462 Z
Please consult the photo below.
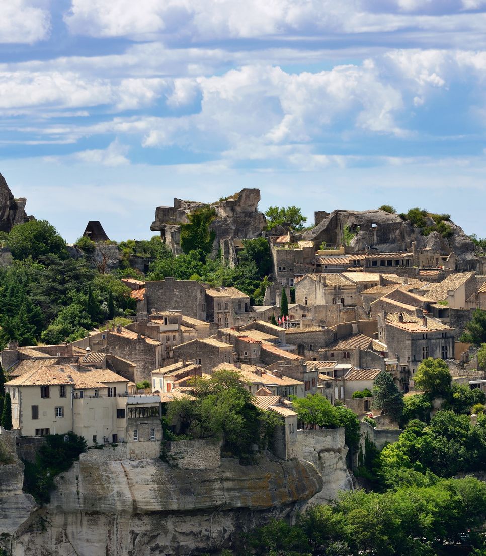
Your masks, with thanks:
M 260 201 L 259 189 L 243 189 L 224 201 L 211 203 L 216 218 L 209 225 L 216 232 L 213 255 L 219 249 L 219 241 L 224 239 L 252 239 L 261 235 L 267 225 L 262 212 L 257 209 Z M 162 239 L 174 255 L 181 254 L 181 224 L 189 222 L 188 215 L 208 206 L 206 203 L 174 199 L 173 207 L 157 207 L 156 219 L 150 229 L 160 231 Z

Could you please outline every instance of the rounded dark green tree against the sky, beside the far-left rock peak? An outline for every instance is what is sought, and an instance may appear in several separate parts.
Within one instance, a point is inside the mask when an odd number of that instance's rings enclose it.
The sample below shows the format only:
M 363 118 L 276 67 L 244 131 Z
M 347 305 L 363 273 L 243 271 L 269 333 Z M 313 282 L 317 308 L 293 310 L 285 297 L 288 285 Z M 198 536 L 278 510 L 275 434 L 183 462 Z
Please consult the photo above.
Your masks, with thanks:
M 8 246 L 12 257 L 24 260 L 32 257 L 37 260 L 42 255 L 67 257 L 66 242 L 57 233 L 56 228 L 47 220 L 29 220 L 17 224 L 8 234 Z

